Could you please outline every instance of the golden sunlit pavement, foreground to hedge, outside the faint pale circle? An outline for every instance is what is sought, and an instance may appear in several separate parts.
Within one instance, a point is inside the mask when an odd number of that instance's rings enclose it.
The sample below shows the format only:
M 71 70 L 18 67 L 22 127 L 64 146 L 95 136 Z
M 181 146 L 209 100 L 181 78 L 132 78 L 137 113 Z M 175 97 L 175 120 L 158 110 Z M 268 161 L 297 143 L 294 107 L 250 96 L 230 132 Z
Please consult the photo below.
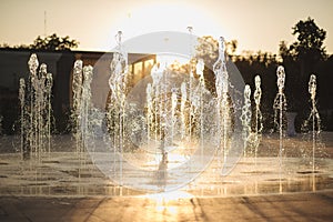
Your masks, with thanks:
M 89 155 L 78 159 L 68 137 L 39 161 L 22 161 L 10 147 L 17 140 L 2 138 L 0 221 L 332 221 L 333 133 L 324 135 L 315 168 L 303 137 L 285 139 L 280 168 L 279 141 L 266 135 L 228 175 L 214 160 L 181 189 L 157 194 L 114 184 Z

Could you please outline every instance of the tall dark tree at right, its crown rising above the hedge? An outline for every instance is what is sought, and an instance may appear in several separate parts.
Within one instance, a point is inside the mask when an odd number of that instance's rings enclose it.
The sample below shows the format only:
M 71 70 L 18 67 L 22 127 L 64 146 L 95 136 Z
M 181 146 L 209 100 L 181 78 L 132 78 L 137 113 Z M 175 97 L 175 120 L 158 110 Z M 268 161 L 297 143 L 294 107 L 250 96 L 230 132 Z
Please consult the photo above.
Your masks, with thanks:
M 281 41 L 279 54 L 286 72 L 285 93 L 289 98 L 289 109 L 303 112 L 304 105 L 307 104 L 304 95 L 307 93 L 310 74 L 315 73 L 321 61 L 326 59 L 323 46 L 326 32 L 311 18 L 299 21 L 292 30 L 296 41 L 290 47 L 285 41 Z

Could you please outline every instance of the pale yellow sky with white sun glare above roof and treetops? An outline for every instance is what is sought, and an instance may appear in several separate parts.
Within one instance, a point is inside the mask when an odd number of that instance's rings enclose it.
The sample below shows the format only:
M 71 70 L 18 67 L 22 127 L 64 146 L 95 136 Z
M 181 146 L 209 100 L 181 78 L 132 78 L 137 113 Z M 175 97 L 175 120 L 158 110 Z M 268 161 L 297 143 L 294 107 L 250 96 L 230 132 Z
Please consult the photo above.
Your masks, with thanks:
M 32 43 L 44 34 L 70 36 L 79 50 L 114 47 L 118 30 L 124 40 L 154 31 L 223 36 L 242 50 L 278 53 L 281 40 L 293 42 L 292 27 L 311 17 L 327 32 L 333 53 L 332 0 L 0 0 L 0 43 Z

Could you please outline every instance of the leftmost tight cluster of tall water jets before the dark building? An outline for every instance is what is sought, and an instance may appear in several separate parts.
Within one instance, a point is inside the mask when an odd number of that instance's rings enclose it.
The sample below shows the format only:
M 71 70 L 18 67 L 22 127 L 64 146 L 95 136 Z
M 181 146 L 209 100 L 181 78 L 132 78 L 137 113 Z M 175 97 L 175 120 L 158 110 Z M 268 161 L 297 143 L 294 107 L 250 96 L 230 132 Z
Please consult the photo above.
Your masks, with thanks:
M 47 72 L 47 64 L 42 63 L 37 73 L 39 62 L 36 54 L 31 54 L 28 62 L 30 77 L 27 82 L 20 79 L 20 123 L 21 123 L 21 155 L 22 159 L 36 157 L 40 162 L 43 153 L 51 152 L 51 89 L 52 74 Z

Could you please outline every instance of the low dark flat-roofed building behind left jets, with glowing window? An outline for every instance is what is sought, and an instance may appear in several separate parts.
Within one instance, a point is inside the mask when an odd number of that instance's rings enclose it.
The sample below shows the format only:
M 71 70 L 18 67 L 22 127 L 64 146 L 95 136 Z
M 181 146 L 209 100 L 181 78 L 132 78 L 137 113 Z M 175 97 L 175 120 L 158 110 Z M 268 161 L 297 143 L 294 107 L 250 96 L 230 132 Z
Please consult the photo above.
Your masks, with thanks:
M 28 61 L 31 53 L 37 53 L 39 64 L 46 63 L 48 72 L 53 75 L 52 108 L 58 132 L 64 132 L 71 110 L 71 81 L 74 61 L 80 59 L 84 65 L 94 68 L 93 75 L 98 81 L 92 87 L 98 90 L 109 90 L 110 62 L 112 52 L 90 51 L 31 51 L 21 49 L 0 49 L 0 117 L 2 131 L 7 134 L 16 131 L 19 117 L 19 80 L 29 78 Z M 154 54 L 129 53 L 130 85 L 150 73 L 155 63 Z M 98 78 L 97 78 L 98 77 Z M 104 97 L 104 98 L 103 98 Z M 108 93 L 99 98 L 102 103 Z

